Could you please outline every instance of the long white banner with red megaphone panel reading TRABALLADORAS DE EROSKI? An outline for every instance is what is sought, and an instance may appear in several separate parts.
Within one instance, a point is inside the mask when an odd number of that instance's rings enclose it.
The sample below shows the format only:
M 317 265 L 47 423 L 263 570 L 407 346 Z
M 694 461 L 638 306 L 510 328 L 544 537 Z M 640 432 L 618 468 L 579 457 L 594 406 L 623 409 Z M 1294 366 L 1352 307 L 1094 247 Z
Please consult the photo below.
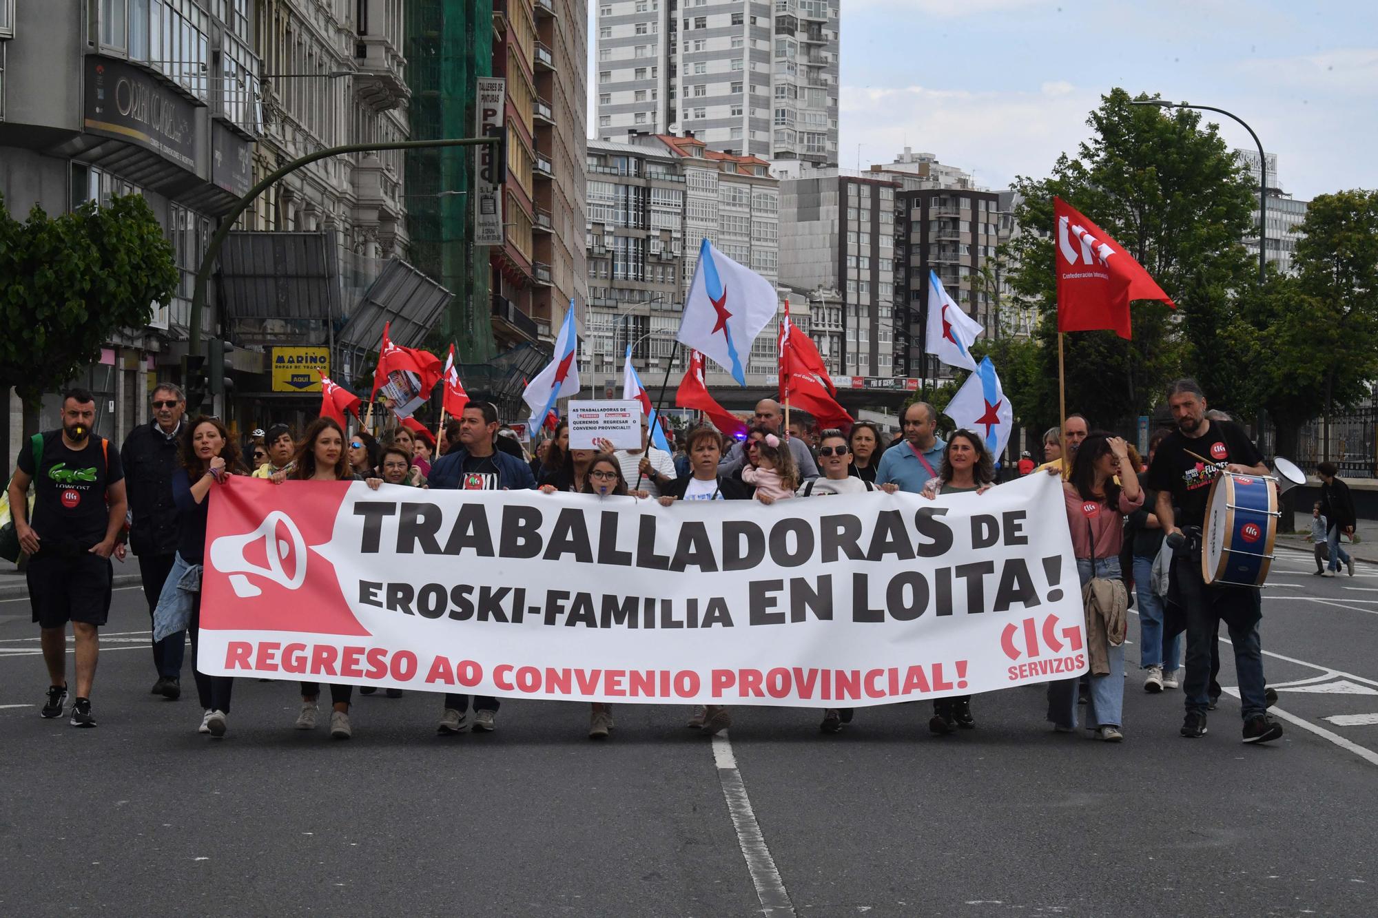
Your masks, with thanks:
M 1087 663 L 1050 476 L 773 506 L 245 477 L 211 493 L 215 675 L 854 707 Z

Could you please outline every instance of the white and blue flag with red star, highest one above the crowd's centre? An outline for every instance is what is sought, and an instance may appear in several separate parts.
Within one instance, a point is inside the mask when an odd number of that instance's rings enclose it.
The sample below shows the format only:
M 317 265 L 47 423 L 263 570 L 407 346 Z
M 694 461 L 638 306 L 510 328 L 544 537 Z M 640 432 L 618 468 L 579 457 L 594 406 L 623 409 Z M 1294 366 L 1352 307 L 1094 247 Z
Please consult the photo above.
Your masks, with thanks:
M 745 364 L 751 343 L 779 309 L 774 285 L 743 267 L 707 238 L 699 247 L 699 265 L 679 320 L 679 343 L 712 357 L 747 385 Z

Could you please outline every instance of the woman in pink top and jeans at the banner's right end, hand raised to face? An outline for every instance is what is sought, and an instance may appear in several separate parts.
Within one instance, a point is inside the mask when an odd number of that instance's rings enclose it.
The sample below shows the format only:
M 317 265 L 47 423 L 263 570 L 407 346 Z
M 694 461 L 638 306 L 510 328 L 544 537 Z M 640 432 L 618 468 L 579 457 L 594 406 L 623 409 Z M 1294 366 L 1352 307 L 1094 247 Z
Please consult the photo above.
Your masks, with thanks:
M 1056 467 L 1047 471 L 1058 474 Z M 1076 572 L 1087 602 L 1086 638 L 1091 674 L 1086 728 L 1094 731 L 1096 739 L 1119 743 L 1124 739 L 1124 620 L 1129 609 L 1119 555 L 1124 514 L 1144 506 L 1144 491 L 1124 440 L 1104 431 L 1087 436 L 1076 449 L 1072 474 L 1062 492 Z M 1090 590 L 1087 584 L 1091 584 Z M 1078 682 L 1075 678 L 1049 682 L 1047 720 L 1058 732 L 1076 729 Z

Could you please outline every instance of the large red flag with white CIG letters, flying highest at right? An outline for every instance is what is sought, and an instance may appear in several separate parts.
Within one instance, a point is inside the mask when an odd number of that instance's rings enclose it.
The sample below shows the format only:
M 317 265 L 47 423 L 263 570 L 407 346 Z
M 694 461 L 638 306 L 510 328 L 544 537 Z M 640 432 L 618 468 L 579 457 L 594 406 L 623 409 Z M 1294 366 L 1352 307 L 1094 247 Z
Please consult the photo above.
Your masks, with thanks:
M 1053 198 L 1053 259 L 1057 263 L 1057 329 L 1109 329 L 1129 339 L 1129 303 L 1160 299 L 1177 305 L 1124 247 L 1060 197 Z

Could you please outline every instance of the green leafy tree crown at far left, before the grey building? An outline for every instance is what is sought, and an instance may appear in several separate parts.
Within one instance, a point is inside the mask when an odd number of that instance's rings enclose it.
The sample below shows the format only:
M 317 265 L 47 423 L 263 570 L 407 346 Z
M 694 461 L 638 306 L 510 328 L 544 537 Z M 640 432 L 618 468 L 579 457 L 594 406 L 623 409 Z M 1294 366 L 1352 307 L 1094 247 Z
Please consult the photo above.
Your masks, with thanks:
M 101 357 L 121 328 L 147 324 L 178 284 L 172 245 L 139 194 L 23 223 L 0 198 L 0 387 L 37 401 Z

